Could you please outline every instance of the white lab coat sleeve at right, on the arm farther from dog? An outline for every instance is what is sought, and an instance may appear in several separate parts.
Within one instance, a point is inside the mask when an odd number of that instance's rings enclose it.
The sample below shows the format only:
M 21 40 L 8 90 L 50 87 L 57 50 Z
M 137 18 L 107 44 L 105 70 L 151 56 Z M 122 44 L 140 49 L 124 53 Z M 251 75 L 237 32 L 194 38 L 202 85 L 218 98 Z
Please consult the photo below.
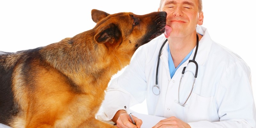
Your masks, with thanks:
M 251 71 L 244 61 L 228 67 L 214 96 L 219 122 L 188 123 L 191 128 L 255 128 L 256 110 L 251 86 Z

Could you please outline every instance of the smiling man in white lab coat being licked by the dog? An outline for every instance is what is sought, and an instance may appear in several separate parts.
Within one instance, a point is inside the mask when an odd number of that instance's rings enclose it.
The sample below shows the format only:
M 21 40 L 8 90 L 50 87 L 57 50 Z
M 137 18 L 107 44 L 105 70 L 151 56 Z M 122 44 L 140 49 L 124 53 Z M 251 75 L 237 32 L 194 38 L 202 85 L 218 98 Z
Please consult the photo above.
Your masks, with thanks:
M 158 11 L 167 12 L 168 39 L 159 65 L 164 36 L 143 45 L 123 74 L 111 81 L 102 106 L 107 118 L 119 128 L 140 128 L 142 121 L 132 116 L 132 124 L 124 106 L 147 98 L 149 115 L 167 117 L 154 128 L 255 128 L 250 68 L 197 26 L 204 19 L 202 0 L 161 0 Z M 188 63 L 193 58 L 198 67 Z

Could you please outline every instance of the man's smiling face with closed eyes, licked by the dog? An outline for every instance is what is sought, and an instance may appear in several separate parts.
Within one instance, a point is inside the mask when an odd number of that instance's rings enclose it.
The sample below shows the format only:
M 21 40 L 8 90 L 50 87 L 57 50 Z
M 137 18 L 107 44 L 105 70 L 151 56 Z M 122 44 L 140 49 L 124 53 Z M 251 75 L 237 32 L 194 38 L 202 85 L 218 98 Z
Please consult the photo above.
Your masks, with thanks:
M 188 36 L 203 24 L 203 12 L 198 12 L 198 0 L 163 0 L 158 11 L 167 12 L 166 24 L 172 27 L 170 37 Z

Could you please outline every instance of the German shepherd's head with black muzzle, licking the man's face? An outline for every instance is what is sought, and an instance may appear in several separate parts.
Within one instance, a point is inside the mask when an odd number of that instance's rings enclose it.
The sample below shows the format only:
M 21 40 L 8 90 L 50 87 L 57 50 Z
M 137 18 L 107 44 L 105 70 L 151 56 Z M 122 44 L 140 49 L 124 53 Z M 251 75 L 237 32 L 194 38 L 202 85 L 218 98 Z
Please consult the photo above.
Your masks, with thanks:
M 133 54 L 138 47 L 164 33 L 166 12 L 108 14 L 93 9 L 92 20 L 97 23 L 93 28 L 96 42 Z

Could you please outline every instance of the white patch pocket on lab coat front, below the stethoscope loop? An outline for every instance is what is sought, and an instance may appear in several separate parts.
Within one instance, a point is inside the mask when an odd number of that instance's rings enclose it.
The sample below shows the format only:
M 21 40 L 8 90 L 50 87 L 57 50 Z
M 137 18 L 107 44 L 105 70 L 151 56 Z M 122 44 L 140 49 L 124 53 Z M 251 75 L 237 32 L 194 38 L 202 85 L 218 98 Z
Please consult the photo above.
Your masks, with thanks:
M 196 122 L 200 120 L 211 121 L 213 112 L 213 97 L 202 97 L 192 92 L 188 104 L 185 105 L 186 122 Z

